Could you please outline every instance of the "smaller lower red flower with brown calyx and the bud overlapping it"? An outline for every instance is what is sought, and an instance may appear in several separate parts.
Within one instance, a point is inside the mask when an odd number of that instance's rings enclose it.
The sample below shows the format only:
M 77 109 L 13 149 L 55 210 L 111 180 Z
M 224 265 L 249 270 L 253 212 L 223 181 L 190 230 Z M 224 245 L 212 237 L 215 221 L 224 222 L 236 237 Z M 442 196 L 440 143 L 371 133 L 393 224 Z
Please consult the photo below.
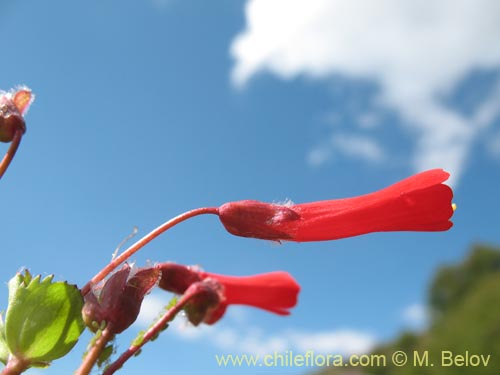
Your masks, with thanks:
M 156 267 L 162 273 L 158 283 L 160 288 L 183 294 L 196 285 L 202 291 L 202 296 L 188 304 L 186 309 L 193 324 L 217 322 L 229 305 L 253 306 L 278 315 L 288 315 L 289 309 L 297 304 L 300 291 L 299 284 L 283 271 L 254 276 L 226 276 L 175 263 L 161 263 Z

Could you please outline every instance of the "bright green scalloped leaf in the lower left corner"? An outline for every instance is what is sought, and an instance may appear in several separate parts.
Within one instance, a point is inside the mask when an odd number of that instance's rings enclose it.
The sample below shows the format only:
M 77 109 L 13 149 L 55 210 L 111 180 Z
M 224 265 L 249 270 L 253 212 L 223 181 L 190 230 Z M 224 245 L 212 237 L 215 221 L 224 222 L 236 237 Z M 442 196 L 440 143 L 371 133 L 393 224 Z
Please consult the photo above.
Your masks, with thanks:
M 26 271 L 9 282 L 9 307 L 5 337 L 10 353 L 31 362 L 46 364 L 68 353 L 84 329 L 83 298 L 74 285 L 40 281 Z

